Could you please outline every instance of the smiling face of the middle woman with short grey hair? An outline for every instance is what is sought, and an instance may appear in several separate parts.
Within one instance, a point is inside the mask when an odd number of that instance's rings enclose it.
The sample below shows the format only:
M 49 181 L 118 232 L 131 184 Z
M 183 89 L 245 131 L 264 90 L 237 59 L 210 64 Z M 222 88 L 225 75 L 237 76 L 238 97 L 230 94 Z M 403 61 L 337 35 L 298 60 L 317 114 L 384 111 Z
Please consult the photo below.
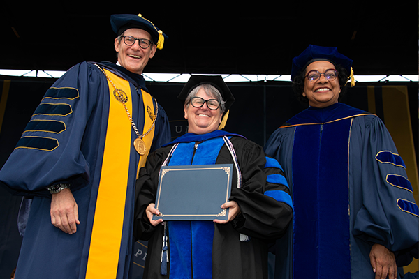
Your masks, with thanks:
M 204 89 L 201 88 L 196 97 L 203 98 L 204 100 L 210 100 L 214 97 L 205 93 Z M 194 134 L 206 134 L 216 130 L 221 123 L 221 110 L 210 110 L 207 107 L 207 103 L 204 103 L 202 107 L 193 107 L 190 103 L 184 106 L 185 119 L 188 120 L 189 133 Z

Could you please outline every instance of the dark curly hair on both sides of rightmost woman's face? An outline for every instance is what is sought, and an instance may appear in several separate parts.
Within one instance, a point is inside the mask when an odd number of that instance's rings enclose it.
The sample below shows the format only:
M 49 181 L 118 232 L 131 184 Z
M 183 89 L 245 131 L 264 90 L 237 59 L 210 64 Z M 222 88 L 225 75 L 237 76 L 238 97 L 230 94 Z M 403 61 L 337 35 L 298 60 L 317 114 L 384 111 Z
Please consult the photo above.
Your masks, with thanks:
M 304 92 L 304 79 L 306 75 L 306 68 L 304 68 L 304 70 L 302 70 L 300 74 L 294 78 L 292 84 L 295 96 L 297 96 L 297 99 L 303 104 L 309 103 L 309 99 L 307 99 L 307 97 L 302 96 L 302 92 Z M 339 85 L 341 86 L 341 93 L 339 94 L 338 99 L 338 101 L 340 101 L 346 93 L 346 91 L 348 91 L 348 86 L 346 86 L 346 82 L 348 81 L 348 71 L 340 65 L 335 65 L 335 69 L 337 70 L 337 80 L 339 80 Z

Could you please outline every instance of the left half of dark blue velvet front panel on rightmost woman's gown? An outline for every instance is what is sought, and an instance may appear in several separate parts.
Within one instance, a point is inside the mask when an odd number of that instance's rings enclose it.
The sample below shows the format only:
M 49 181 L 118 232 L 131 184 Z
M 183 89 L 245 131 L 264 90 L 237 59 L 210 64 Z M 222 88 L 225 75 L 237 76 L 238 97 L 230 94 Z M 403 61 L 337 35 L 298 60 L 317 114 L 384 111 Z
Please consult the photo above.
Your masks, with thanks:
M 316 200 L 318 188 L 316 184 L 318 153 L 320 152 L 319 134 L 319 125 L 297 127 L 295 130 L 294 146 L 298 148 L 293 149 L 293 278 L 318 279 L 318 206 Z M 306 270 L 307 272 L 304 272 Z

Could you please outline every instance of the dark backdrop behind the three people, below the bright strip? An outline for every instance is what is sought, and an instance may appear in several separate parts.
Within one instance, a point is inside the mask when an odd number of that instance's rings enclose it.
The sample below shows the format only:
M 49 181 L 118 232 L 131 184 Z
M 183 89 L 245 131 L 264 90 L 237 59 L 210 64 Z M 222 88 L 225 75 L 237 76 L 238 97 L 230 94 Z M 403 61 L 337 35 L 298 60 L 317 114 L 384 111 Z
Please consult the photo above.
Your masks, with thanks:
M 0 167 L 13 151 L 43 94 L 54 82 L 49 79 L 8 79 L 9 77 L 0 77 L 0 89 L 3 88 L 0 91 Z M 147 83 L 149 91 L 168 114 L 173 139 L 187 130 L 183 105 L 176 99 L 183 85 Z M 226 130 L 244 135 L 260 145 L 265 144 L 272 132 L 282 123 L 305 108 L 293 96 L 289 82 L 231 83 L 228 86 L 236 102 L 230 109 Z M 411 170 L 411 173 L 408 173 L 409 179 L 417 188 L 418 84 L 358 84 L 349 90 L 343 103 L 376 113 L 388 128 L 392 127 L 389 128 L 390 133 L 399 138 L 395 139 L 397 148 Z M 395 105 L 396 103 L 401 105 Z M 395 127 L 401 126 L 402 131 L 396 129 L 392 132 Z M 406 146 L 406 142 L 412 144 Z M 415 197 L 418 202 L 418 193 Z M 21 197 L 12 196 L 0 187 L 0 278 L 8 278 L 17 263 L 22 241 L 17 232 L 20 202 Z M 146 255 L 147 242 L 135 243 L 135 278 L 142 278 Z

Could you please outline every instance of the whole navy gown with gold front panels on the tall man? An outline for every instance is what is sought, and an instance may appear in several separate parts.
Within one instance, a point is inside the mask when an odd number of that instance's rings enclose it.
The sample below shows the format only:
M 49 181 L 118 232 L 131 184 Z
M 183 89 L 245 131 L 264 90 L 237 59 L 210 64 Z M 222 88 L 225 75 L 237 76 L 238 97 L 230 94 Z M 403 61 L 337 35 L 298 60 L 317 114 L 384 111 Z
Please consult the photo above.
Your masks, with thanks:
M 144 78 L 112 63 L 100 66 L 126 93 L 140 134 L 146 132 L 157 104 Z M 141 158 L 133 148 L 137 135 L 113 91 L 94 63 L 68 70 L 45 93 L 1 169 L 0 181 L 13 193 L 33 197 L 16 278 L 127 278 Z M 156 117 L 148 135 L 151 149 L 170 141 L 160 106 Z M 51 195 L 45 188 L 54 183 L 71 184 L 80 220 L 75 234 L 51 224 Z

